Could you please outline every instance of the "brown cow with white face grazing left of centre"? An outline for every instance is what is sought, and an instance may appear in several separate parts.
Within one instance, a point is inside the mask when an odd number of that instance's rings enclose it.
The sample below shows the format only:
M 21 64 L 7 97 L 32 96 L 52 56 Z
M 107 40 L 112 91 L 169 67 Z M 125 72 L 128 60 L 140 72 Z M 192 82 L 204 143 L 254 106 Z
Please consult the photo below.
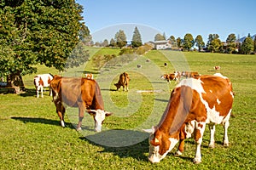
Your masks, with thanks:
M 61 126 L 65 127 L 64 114 L 66 107 L 79 107 L 79 123 L 77 130 L 81 130 L 84 111 L 86 110 L 94 117 L 95 130 L 102 130 L 102 122 L 105 116 L 111 113 L 104 111 L 101 90 L 95 80 L 80 77 L 59 77 L 55 76 L 50 82 L 53 90 L 53 101 L 56 112 L 61 119 Z

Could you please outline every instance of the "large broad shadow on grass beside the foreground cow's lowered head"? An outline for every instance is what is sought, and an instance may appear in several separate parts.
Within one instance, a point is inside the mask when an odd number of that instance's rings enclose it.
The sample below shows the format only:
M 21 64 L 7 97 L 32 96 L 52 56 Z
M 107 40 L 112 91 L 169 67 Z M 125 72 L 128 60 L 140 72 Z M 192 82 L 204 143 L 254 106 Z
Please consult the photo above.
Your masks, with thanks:
M 82 140 L 90 144 L 101 146 L 101 153 L 113 153 L 120 158 L 133 157 L 138 161 L 148 161 L 148 133 L 132 130 L 108 130 L 85 137 Z

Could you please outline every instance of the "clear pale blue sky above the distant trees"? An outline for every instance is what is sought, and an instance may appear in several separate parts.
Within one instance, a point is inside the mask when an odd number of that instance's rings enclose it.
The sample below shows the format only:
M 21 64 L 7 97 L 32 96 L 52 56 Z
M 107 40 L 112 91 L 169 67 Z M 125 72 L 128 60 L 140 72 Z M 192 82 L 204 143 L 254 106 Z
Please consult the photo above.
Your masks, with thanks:
M 76 0 L 84 7 L 85 26 L 94 42 L 110 41 L 124 30 L 132 39 L 137 26 L 143 42 L 154 41 L 156 33 L 166 38 L 195 38 L 218 34 L 221 41 L 234 33 L 236 37 L 256 34 L 256 1 L 254 0 Z

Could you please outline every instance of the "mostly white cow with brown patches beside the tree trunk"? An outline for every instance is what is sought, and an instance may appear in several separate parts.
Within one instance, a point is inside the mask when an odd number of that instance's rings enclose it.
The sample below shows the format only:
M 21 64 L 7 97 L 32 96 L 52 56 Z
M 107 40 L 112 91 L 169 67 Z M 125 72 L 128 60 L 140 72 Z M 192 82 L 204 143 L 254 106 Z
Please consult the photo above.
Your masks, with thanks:
M 39 91 L 41 90 L 41 96 L 44 98 L 44 88 L 49 87 L 50 81 L 53 79 L 51 74 L 41 74 L 34 77 L 34 85 L 37 90 L 37 98 L 39 98 Z M 49 89 L 49 95 L 52 95 L 51 90 Z

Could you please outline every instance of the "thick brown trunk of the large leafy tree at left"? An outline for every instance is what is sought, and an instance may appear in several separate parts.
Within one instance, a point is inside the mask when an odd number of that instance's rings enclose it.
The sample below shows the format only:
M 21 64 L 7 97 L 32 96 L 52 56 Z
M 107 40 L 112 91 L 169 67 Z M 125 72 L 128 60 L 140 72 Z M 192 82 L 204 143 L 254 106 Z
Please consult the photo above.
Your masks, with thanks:
M 7 88 L 9 88 L 9 93 L 13 94 L 20 94 L 25 90 L 20 72 L 11 73 L 7 76 Z

